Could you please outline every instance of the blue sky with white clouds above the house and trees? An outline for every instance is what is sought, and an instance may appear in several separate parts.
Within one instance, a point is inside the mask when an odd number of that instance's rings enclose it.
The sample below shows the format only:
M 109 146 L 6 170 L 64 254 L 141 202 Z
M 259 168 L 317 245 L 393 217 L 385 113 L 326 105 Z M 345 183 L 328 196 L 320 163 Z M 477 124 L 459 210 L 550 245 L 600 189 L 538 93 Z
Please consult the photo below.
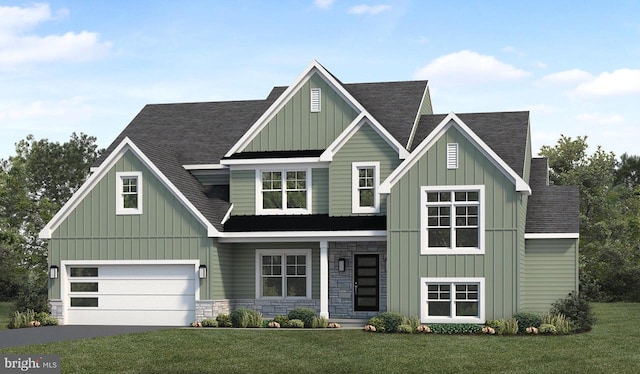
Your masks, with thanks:
M 0 158 L 28 134 L 106 147 L 148 103 L 261 99 L 313 59 L 428 79 L 436 113 L 530 110 L 535 152 L 640 154 L 638 1 L 0 0 Z

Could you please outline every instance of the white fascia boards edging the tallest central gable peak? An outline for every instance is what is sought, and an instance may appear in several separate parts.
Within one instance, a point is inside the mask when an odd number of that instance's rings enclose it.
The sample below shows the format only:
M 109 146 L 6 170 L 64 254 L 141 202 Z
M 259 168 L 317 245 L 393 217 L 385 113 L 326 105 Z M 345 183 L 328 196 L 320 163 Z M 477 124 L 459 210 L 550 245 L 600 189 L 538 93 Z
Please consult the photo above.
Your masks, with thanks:
M 340 96 L 342 96 L 343 99 L 347 101 L 347 103 L 349 103 L 349 105 L 351 105 L 354 110 L 357 112 L 362 112 L 364 110 L 362 105 L 360 105 L 360 103 L 358 103 L 353 96 L 351 96 L 351 94 L 342 87 L 340 82 L 333 78 L 333 76 L 324 67 L 322 67 L 318 61 L 313 60 L 302 74 L 300 74 L 298 78 L 296 78 L 296 80 L 293 81 L 286 90 L 284 90 L 280 97 L 278 97 L 276 101 L 260 116 L 260 118 L 256 120 L 249 131 L 247 131 L 240 140 L 238 140 L 236 144 L 229 149 L 225 154 L 225 157 L 230 157 L 236 152 L 241 152 L 315 73 L 318 73 L 325 82 L 330 86 L 333 86 L 333 88 L 340 94 Z

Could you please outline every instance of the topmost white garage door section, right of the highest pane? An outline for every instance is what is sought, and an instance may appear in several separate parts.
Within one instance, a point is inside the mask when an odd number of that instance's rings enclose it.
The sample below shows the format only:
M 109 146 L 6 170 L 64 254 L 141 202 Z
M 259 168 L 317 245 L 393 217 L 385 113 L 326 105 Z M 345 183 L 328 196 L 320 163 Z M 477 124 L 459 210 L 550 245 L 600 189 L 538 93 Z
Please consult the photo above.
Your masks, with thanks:
M 195 279 L 193 265 L 103 265 L 98 277 L 102 279 Z

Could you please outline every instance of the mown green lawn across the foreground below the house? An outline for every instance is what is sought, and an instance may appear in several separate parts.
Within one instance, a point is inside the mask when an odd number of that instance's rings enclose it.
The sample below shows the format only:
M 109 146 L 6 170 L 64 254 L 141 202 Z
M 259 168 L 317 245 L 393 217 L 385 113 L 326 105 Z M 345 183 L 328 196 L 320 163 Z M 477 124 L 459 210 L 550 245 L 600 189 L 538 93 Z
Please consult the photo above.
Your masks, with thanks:
M 91 373 L 635 373 L 640 304 L 594 304 L 593 331 L 570 336 L 444 336 L 361 330 L 176 329 L 0 349 L 59 354 Z

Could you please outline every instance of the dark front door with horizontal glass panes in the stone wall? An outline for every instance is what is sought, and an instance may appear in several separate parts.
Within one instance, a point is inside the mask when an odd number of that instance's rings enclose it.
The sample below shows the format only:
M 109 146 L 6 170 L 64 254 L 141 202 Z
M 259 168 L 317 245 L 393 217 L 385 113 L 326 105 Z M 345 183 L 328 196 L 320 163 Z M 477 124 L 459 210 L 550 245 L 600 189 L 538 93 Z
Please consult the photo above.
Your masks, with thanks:
M 380 307 L 378 255 L 355 255 L 353 291 L 356 311 L 377 311 Z

